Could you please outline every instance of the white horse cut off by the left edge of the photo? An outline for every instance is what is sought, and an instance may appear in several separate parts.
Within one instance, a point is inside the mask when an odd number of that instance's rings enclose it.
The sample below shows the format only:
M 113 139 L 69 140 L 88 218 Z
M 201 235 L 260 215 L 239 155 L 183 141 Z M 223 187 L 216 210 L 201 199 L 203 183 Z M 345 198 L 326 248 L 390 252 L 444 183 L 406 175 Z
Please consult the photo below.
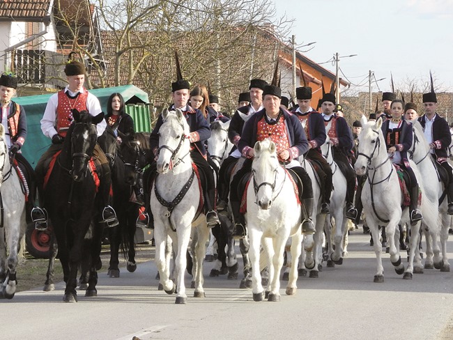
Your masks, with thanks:
M 17 172 L 10 164 L 5 129 L 0 124 L 0 296 L 7 299 L 15 295 L 17 253 L 26 230 L 25 196 L 21 185 Z

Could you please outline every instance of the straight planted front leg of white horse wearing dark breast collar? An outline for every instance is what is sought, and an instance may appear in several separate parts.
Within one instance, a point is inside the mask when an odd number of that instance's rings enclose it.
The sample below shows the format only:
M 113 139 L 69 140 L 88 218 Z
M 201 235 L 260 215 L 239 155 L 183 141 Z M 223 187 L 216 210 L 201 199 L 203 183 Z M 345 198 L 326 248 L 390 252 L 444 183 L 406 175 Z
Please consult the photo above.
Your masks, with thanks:
M 186 252 L 187 247 L 189 246 L 190 241 L 190 231 L 192 226 L 178 226 L 176 227 L 176 237 L 177 237 L 177 254 L 175 259 L 176 265 L 176 286 L 178 287 L 178 292 L 176 293 L 176 304 L 185 304 L 187 303 L 187 295 L 185 294 L 185 284 L 184 284 L 184 272 L 187 267 Z M 173 240 L 175 243 L 175 239 Z

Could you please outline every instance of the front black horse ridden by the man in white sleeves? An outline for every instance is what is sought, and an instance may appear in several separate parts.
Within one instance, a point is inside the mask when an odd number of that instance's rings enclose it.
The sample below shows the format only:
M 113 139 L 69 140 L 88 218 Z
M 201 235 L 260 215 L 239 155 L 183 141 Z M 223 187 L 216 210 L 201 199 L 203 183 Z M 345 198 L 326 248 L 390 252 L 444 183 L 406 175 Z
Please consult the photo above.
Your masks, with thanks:
M 102 121 L 104 114 L 91 116 L 87 111 L 72 110 L 72 115 L 74 121 L 43 188 L 45 208 L 56 236 L 66 282 L 63 296 L 65 302 L 77 302 L 77 270 L 86 259 L 89 259 L 90 265 L 89 286 L 85 295 L 97 295 L 96 265 L 100 258 L 104 227 L 99 222 L 103 202 L 98 190 L 109 190 L 111 180 L 109 173 L 102 173 L 100 169 L 90 170 L 89 167 L 97 141 L 95 125 Z M 97 185 L 98 179 L 102 181 L 102 185 Z M 84 247 L 86 235 L 91 235 L 89 249 Z

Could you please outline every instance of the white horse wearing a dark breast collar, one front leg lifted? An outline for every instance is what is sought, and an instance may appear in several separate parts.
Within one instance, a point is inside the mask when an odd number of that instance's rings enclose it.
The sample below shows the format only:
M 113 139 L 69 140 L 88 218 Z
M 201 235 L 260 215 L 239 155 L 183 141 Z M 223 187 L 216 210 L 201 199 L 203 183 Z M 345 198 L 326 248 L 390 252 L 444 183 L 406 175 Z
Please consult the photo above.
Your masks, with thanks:
M 203 259 L 209 229 L 205 215 L 197 217 L 200 200 L 199 181 L 194 175 L 190 159 L 189 125 L 181 110 L 162 112 L 163 123 L 159 130 L 158 176 L 151 190 L 151 210 L 154 216 L 155 263 L 160 274 L 160 284 L 168 294 L 178 290 L 176 303 L 185 304 L 184 272 L 187 268 L 186 252 L 192 226 L 192 256 L 194 265 L 194 297 L 204 297 Z M 195 219 L 195 220 L 194 220 Z M 170 236 L 176 254 L 176 286 L 169 278 L 169 259 L 165 243 Z M 167 256 L 169 254 L 167 253 Z

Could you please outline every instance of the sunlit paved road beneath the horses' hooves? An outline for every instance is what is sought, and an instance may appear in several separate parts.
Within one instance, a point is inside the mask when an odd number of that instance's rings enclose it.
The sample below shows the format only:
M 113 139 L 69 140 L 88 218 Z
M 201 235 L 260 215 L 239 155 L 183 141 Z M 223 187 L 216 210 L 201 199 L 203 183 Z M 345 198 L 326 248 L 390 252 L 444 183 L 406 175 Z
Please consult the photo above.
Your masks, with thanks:
M 294 296 L 283 284 L 280 302 L 253 302 L 239 280 L 208 277 L 206 263 L 206 298 L 176 305 L 157 290 L 149 261 L 118 279 L 100 273 L 98 297 L 79 293 L 77 304 L 61 301 L 63 284 L 1 300 L 0 339 L 453 339 L 445 331 L 453 325 L 453 273 L 425 270 L 403 280 L 386 255 L 385 283 L 375 284 L 374 252 L 361 231 L 351 233 L 343 265 L 318 279 L 300 277 Z

